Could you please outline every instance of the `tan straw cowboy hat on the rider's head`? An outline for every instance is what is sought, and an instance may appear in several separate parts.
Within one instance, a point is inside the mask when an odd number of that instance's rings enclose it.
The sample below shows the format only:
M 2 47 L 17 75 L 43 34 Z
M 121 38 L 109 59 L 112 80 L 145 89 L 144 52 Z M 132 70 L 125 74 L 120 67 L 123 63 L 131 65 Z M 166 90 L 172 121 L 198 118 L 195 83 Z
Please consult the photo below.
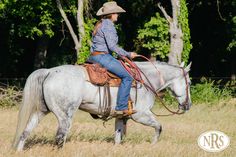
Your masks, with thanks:
M 122 9 L 120 6 L 118 6 L 115 1 L 112 1 L 104 3 L 103 6 L 98 10 L 96 15 L 102 16 L 112 13 L 124 13 L 124 12 L 126 11 Z

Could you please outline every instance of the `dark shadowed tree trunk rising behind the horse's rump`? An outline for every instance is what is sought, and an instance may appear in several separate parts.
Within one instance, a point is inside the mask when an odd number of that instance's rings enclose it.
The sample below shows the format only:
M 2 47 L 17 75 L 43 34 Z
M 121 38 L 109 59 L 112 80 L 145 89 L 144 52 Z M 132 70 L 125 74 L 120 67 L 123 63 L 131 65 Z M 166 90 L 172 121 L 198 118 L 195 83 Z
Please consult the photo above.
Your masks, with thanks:
M 42 36 L 37 41 L 37 48 L 35 52 L 35 60 L 34 60 L 34 69 L 39 69 L 44 67 L 45 59 L 47 56 L 49 37 Z

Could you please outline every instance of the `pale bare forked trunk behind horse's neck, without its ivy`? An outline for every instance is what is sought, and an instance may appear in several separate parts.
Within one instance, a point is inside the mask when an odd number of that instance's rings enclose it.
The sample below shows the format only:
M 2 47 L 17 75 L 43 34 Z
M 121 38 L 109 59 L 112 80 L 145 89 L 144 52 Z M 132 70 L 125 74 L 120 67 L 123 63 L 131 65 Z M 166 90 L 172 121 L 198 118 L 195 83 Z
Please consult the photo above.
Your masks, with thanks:
M 172 18 L 166 13 L 165 9 L 158 4 L 165 18 L 169 22 L 170 27 L 170 53 L 168 55 L 168 63 L 173 65 L 180 65 L 181 54 L 183 51 L 183 33 L 181 25 L 178 22 L 180 14 L 180 0 L 171 0 L 172 5 Z

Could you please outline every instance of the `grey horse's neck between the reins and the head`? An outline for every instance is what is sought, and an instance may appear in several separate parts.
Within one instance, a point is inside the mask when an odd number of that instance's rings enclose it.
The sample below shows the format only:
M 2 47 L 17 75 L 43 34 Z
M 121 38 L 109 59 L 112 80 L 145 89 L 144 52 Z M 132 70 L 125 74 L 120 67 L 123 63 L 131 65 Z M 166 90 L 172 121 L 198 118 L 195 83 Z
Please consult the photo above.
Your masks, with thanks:
M 163 86 L 165 83 L 180 75 L 179 67 L 167 63 L 155 62 L 153 63 L 153 65 L 150 62 L 140 62 L 136 64 L 146 75 L 146 77 L 152 82 L 156 90 Z

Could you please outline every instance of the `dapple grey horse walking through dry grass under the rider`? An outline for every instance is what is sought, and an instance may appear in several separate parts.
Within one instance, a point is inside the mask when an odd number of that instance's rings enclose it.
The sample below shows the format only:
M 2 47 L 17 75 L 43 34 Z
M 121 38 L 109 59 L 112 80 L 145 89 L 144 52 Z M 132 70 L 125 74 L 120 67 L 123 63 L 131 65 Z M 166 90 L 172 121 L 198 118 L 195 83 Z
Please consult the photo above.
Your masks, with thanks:
M 149 80 L 148 82 L 156 91 L 169 87 L 179 103 L 179 108 L 183 111 L 190 108 L 188 74 L 190 65 L 186 68 L 162 62 L 153 62 L 153 65 L 150 62 L 136 62 L 136 65 L 146 75 L 144 81 Z M 24 87 L 13 148 L 22 150 L 33 128 L 49 112 L 56 116 L 59 123 L 56 144 L 63 146 L 77 109 L 91 114 L 100 114 L 99 103 L 104 99 L 101 97 L 102 94 L 99 94 L 99 91 L 103 93 L 100 88 L 103 87 L 88 81 L 83 66 L 63 65 L 34 71 L 27 78 Z M 112 109 L 116 104 L 117 91 L 117 87 L 110 88 Z M 155 94 L 140 84 L 137 90 L 131 89 L 130 97 L 132 100 L 136 99 L 134 109 L 137 111 L 130 118 L 135 122 L 153 127 L 155 129 L 153 143 L 157 142 L 162 128 L 151 111 Z M 115 143 L 121 142 L 124 131 L 122 122 L 116 119 Z

